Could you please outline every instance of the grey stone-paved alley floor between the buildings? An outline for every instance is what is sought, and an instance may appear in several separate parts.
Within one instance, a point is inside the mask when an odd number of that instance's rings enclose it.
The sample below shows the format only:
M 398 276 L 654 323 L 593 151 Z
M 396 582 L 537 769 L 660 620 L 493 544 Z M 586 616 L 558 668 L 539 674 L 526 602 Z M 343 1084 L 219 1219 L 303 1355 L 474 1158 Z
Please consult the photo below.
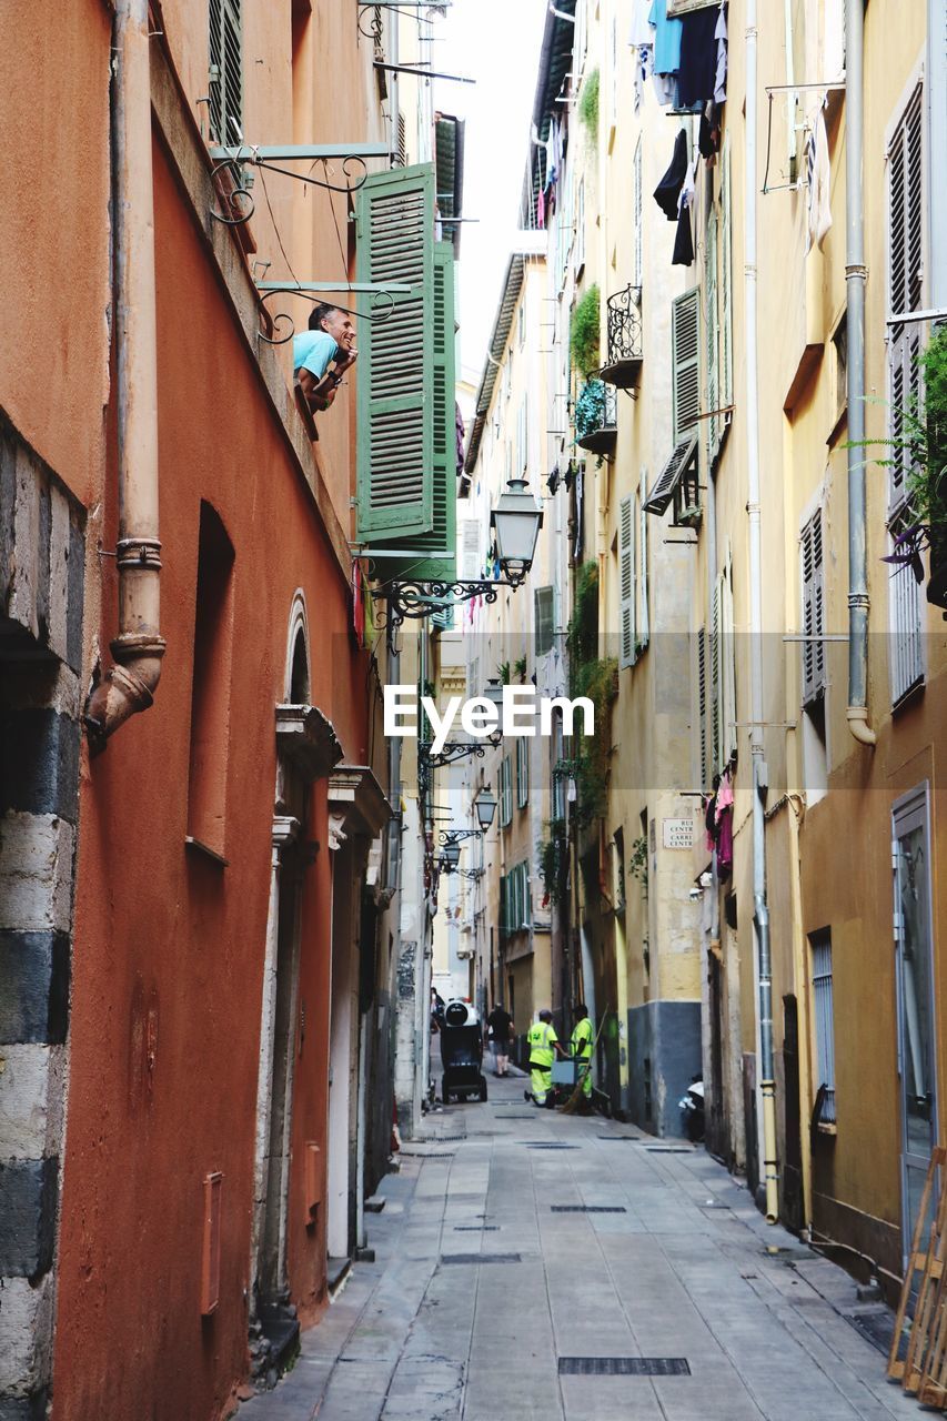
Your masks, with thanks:
M 768 1228 L 702 1150 L 489 1084 L 489 1104 L 428 1117 L 405 1144 L 368 1216 L 377 1262 L 355 1265 L 247 1421 L 919 1415 L 863 1334 L 880 1306 Z M 627 1374 L 643 1358 L 664 1374 Z

